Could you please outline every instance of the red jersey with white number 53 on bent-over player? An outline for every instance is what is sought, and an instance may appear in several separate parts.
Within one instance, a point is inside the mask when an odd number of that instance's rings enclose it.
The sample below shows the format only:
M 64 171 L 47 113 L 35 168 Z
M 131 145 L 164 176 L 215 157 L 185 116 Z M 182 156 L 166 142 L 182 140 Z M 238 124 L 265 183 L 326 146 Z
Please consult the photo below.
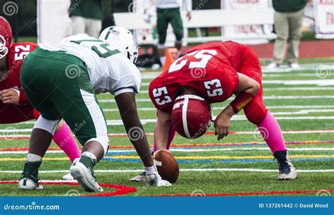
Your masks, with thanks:
M 246 48 L 231 41 L 193 47 L 151 82 L 151 101 L 156 109 L 171 112 L 183 86 L 194 88 L 210 103 L 225 101 L 237 90 Z

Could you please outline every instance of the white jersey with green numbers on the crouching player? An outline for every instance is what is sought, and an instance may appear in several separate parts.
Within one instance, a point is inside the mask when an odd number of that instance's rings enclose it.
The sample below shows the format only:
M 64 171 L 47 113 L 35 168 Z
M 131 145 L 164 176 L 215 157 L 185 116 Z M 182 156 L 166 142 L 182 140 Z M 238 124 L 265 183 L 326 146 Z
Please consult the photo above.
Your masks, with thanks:
M 117 96 L 140 90 L 140 71 L 111 44 L 88 35 L 75 35 L 62 39 L 58 44 L 38 45 L 49 51 L 66 51 L 84 61 L 96 94 L 110 92 Z

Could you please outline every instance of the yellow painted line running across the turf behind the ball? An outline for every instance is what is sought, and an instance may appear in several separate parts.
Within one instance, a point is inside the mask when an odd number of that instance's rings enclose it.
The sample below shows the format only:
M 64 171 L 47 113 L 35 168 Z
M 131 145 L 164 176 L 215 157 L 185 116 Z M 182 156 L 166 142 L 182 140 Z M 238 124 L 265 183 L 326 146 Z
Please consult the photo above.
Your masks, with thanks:
M 334 155 L 327 154 L 292 154 L 291 158 L 334 158 Z M 27 158 L 13 158 L 13 157 L 4 157 L 0 158 L 0 161 L 25 161 Z M 140 159 L 139 156 L 134 155 L 118 155 L 118 156 L 104 156 L 104 159 Z M 256 156 L 224 156 L 224 155 L 215 155 L 215 156 L 175 156 L 175 159 L 179 160 L 225 160 L 225 159 L 273 159 L 272 155 L 256 155 Z M 69 158 L 66 157 L 45 157 L 44 161 L 67 161 Z

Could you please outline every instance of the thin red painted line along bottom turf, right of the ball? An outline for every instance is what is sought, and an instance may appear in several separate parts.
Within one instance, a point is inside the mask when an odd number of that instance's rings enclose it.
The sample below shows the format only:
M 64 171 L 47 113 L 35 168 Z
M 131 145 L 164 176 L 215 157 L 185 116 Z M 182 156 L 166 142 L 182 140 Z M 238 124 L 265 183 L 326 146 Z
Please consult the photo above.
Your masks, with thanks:
M 293 190 L 293 191 L 269 191 L 269 192 L 222 192 L 222 193 L 209 193 L 205 194 L 206 197 L 222 197 L 222 196 L 247 196 L 247 195 L 276 195 L 276 194 L 305 194 L 305 193 L 317 193 L 321 190 Z M 334 192 L 334 190 L 323 190 L 323 192 Z M 204 194 L 171 194 L 171 195 L 149 195 L 159 197 L 189 197 L 189 196 L 204 196 Z

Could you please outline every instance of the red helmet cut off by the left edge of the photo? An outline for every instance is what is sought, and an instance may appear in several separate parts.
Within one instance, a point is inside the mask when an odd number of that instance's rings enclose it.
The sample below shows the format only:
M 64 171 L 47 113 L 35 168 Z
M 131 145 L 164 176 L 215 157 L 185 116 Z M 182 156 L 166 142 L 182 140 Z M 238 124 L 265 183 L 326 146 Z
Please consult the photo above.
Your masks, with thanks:
M 4 17 L 0 16 L 0 59 L 8 54 L 12 37 L 11 25 Z

